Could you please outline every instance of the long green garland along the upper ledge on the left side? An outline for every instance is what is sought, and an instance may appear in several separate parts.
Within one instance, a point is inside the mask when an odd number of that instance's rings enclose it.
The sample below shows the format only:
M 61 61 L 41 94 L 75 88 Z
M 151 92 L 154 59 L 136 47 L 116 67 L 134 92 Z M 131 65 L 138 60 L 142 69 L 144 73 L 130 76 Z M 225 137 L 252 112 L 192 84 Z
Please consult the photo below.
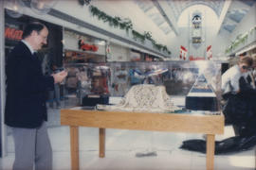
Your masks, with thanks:
M 145 40 L 149 40 L 152 42 L 154 48 L 158 51 L 163 51 L 171 55 L 171 51 L 168 50 L 166 45 L 162 45 L 159 43 L 156 43 L 155 40 L 152 39 L 152 35 L 150 32 L 144 32 L 144 34 L 138 33 L 136 30 L 133 29 L 133 24 L 130 19 L 125 18 L 124 20 L 121 20 L 119 17 L 115 16 L 112 17 L 105 12 L 101 11 L 99 8 L 96 8 L 94 6 L 90 6 L 90 12 L 93 16 L 97 16 L 99 20 L 102 20 L 104 23 L 108 22 L 109 26 L 119 27 L 120 29 L 125 29 L 127 33 L 129 33 L 129 30 L 132 30 L 133 39 L 135 41 L 139 41 L 141 43 L 144 43 Z

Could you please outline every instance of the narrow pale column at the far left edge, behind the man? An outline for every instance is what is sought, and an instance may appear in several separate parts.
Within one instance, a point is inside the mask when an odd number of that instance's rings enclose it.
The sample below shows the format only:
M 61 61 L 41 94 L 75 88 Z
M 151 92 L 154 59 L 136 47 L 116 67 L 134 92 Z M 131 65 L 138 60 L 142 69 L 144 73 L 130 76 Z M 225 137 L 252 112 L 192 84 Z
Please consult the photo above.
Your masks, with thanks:
M 6 156 L 6 127 L 4 124 L 6 84 L 5 84 L 5 8 L 4 1 L 0 0 L 0 140 L 1 140 L 1 157 Z

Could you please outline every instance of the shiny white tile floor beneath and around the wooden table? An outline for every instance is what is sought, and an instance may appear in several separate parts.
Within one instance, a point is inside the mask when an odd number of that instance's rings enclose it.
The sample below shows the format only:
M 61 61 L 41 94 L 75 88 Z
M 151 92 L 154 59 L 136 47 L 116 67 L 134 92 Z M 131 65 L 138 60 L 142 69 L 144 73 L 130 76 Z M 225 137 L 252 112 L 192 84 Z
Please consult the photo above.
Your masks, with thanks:
M 53 148 L 53 170 L 70 169 L 69 127 L 60 126 L 60 110 L 48 110 L 47 123 Z M 106 130 L 105 158 L 99 158 L 99 129 L 80 127 L 80 167 L 82 170 L 204 170 L 205 154 L 179 149 L 182 141 L 202 139 L 201 134 L 169 133 L 142 130 Z M 225 127 L 222 140 L 233 136 L 232 127 Z M 140 155 L 144 157 L 138 157 Z M 145 156 L 146 155 L 146 156 Z M 0 169 L 9 170 L 14 159 L 11 132 L 8 135 L 8 156 L 0 159 Z M 254 148 L 215 156 L 215 170 L 255 169 Z

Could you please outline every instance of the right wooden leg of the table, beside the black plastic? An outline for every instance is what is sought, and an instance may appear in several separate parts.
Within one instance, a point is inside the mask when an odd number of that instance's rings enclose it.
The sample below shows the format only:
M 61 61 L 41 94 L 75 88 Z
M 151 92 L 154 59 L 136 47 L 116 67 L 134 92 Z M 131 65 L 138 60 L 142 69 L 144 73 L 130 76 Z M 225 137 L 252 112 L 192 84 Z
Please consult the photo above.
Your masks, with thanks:
M 207 135 L 207 170 L 214 169 L 215 135 Z

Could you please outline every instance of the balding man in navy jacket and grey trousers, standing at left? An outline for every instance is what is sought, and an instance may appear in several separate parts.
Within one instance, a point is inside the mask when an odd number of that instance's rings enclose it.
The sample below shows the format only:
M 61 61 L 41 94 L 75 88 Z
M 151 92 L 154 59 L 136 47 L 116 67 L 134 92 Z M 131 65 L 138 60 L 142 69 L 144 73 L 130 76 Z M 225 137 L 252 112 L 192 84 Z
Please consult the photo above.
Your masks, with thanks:
M 10 52 L 7 62 L 5 123 L 12 128 L 15 145 L 13 169 L 48 170 L 52 150 L 46 129 L 46 92 L 67 75 L 65 71 L 44 76 L 36 51 L 47 42 L 48 29 L 41 23 L 25 27 L 23 40 Z

